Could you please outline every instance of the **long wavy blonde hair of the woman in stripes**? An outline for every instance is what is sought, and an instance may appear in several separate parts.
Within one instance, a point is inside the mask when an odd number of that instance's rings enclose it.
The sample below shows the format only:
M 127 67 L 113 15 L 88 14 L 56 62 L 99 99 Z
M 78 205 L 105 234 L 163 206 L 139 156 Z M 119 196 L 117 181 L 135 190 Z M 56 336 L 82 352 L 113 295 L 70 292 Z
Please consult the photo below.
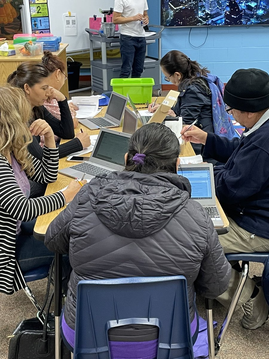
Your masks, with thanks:
M 0 153 L 12 153 L 28 176 L 34 174 L 27 146 L 33 141 L 28 129 L 32 108 L 24 91 L 9 85 L 0 87 Z

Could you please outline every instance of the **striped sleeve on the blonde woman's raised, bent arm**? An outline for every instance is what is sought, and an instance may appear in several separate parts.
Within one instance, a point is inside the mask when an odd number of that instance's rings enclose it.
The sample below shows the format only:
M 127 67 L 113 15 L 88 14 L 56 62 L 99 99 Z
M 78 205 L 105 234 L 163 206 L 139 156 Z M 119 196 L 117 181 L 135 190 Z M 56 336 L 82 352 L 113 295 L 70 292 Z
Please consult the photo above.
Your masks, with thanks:
M 34 166 L 34 175 L 31 180 L 39 183 L 51 183 L 57 181 L 59 167 L 58 148 L 44 146 L 42 161 L 30 156 Z

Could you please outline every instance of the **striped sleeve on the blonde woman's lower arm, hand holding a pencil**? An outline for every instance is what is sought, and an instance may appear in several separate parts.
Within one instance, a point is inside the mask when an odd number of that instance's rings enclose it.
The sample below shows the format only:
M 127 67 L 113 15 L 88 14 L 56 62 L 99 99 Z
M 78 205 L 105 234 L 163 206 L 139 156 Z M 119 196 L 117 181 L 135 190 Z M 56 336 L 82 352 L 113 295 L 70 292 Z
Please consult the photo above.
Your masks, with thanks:
M 56 167 L 58 168 L 58 165 Z M 49 175 L 53 178 L 52 173 Z M 55 211 L 64 205 L 65 197 L 62 192 L 27 199 L 20 190 L 10 165 L 5 161 L 0 162 L 0 206 L 11 218 L 27 222 L 39 215 Z

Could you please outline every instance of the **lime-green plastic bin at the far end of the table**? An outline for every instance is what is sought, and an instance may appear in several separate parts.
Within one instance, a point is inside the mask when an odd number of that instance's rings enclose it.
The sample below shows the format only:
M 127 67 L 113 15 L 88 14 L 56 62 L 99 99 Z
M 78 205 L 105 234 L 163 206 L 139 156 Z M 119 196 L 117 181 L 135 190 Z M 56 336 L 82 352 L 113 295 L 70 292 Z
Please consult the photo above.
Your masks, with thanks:
M 127 93 L 134 103 L 151 103 L 152 87 L 155 85 L 152 78 L 140 79 L 111 79 L 113 91 L 126 96 Z

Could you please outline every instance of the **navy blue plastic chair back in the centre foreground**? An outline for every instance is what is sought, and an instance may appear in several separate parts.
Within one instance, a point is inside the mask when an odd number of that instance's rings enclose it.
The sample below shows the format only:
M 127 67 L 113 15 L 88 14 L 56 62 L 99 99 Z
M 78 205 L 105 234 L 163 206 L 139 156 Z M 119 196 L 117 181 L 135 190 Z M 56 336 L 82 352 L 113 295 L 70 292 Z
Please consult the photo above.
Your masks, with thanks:
M 193 359 L 185 277 L 132 277 L 78 283 L 75 359 L 110 359 L 108 330 L 128 324 L 159 327 L 157 359 Z

